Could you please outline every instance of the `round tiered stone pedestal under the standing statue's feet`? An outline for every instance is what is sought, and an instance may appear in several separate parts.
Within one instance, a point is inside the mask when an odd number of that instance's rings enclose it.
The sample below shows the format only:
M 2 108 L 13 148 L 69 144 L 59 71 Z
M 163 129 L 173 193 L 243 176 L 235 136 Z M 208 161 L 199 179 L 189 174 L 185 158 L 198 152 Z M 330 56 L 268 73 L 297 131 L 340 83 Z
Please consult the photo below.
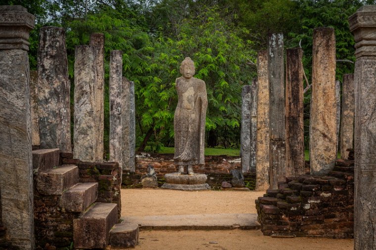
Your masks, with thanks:
M 202 173 L 194 174 L 178 174 L 178 173 L 166 173 L 166 183 L 162 185 L 162 188 L 196 191 L 196 190 L 208 190 L 209 184 L 206 182 L 206 175 Z

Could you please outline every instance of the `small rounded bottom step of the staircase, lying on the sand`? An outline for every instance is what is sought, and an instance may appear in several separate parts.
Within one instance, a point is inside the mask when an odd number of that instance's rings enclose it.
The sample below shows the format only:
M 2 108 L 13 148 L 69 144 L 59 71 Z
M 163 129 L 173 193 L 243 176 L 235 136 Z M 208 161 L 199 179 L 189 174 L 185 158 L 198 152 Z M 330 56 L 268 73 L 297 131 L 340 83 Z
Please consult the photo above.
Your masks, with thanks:
M 139 225 L 137 223 L 120 223 L 110 231 L 111 249 L 134 248 L 139 244 Z

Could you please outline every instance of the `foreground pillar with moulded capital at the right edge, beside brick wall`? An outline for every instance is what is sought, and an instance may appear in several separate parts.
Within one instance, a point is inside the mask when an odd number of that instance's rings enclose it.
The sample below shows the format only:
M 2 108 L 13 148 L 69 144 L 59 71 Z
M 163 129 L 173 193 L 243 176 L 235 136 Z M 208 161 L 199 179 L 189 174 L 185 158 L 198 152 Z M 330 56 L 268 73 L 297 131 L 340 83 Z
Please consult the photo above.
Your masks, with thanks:
M 376 248 L 376 5 L 349 17 L 355 39 L 354 249 Z

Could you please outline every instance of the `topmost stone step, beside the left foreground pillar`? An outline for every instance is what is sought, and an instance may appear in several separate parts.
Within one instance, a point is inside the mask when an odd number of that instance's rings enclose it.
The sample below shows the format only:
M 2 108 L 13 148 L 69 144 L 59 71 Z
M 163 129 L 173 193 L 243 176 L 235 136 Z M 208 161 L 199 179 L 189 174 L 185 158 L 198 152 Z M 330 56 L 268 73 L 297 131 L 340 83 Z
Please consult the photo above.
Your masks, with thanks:
M 33 150 L 32 154 L 34 174 L 59 166 L 60 150 L 58 148 Z

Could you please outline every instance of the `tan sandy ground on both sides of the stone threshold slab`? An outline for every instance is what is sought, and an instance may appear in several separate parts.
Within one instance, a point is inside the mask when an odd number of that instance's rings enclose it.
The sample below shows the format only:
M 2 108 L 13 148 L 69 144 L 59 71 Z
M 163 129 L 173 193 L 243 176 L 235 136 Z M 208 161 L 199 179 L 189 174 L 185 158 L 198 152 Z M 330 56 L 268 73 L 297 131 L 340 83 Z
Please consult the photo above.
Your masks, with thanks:
M 256 213 L 264 192 L 122 189 L 122 215 Z M 352 250 L 353 240 L 277 239 L 261 231 L 140 231 L 136 250 Z

